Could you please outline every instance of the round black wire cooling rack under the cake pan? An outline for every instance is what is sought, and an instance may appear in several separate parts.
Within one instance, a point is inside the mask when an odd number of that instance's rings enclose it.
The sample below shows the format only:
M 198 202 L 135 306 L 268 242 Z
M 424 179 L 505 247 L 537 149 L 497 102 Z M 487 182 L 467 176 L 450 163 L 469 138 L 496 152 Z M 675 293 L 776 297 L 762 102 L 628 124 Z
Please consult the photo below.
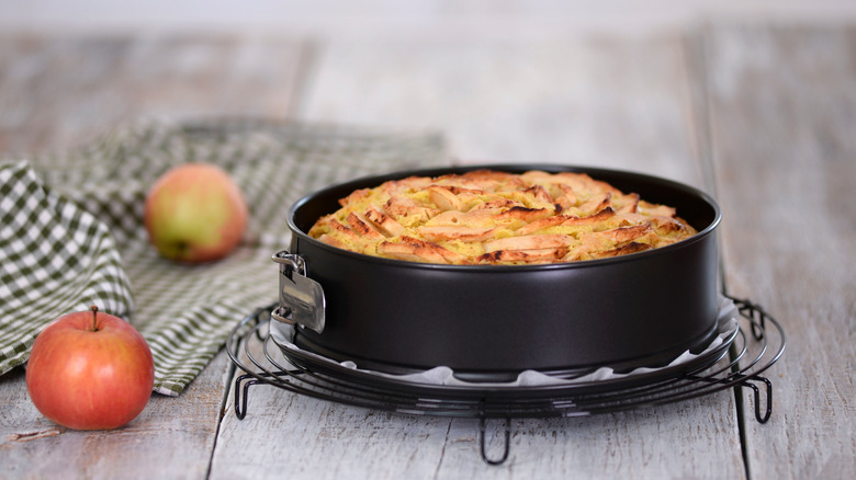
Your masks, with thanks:
M 773 412 L 773 384 L 761 374 L 785 351 L 785 331 L 761 306 L 731 299 L 741 316 L 734 334 L 684 368 L 608 381 L 536 387 L 417 384 L 319 359 L 272 339 L 269 312 L 279 305 L 275 304 L 248 315 L 227 338 L 229 357 L 244 372 L 235 379 L 235 414 L 240 420 L 246 416 L 250 387 L 269 385 L 354 407 L 410 415 L 475 418 L 480 420 L 482 459 L 491 465 L 508 458 L 513 418 L 584 416 L 747 388 L 754 397 L 755 419 L 766 423 Z M 488 419 L 505 419 L 505 447 L 498 458 L 488 458 L 485 452 Z

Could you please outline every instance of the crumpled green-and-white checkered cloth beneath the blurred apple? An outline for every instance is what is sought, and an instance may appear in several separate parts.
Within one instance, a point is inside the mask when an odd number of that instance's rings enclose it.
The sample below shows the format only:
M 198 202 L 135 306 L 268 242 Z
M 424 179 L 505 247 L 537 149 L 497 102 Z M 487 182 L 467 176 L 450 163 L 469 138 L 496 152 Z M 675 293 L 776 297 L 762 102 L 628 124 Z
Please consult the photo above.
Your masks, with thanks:
M 250 206 L 228 258 L 184 265 L 148 244 L 148 186 L 189 161 L 216 163 Z M 352 178 L 448 164 L 442 138 L 250 119 L 140 121 L 67 155 L 0 162 L 0 375 L 26 362 L 52 319 L 97 305 L 131 321 L 155 357 L 155 391 L 177 396 L 232 328 L 274 301 L 288 208 Z

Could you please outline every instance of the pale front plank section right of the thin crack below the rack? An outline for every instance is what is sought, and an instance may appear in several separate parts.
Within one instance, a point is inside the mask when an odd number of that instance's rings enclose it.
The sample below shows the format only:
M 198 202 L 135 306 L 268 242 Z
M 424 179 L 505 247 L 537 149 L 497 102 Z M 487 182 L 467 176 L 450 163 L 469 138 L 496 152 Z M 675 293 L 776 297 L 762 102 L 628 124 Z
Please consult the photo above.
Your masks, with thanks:
M 478 459 L 477 422 L 454 421 L 438 478 L 741 478 L 730 393 L 656 409 L 511 422 L 508 465 Z M 494 425 L 499 428 L 499 425 Z M 466 438 L 466 442 L 461 439 Z M 488 453 L 500 452 L 494 432 Z M 732 458 L 732 460 L 728 460 Z

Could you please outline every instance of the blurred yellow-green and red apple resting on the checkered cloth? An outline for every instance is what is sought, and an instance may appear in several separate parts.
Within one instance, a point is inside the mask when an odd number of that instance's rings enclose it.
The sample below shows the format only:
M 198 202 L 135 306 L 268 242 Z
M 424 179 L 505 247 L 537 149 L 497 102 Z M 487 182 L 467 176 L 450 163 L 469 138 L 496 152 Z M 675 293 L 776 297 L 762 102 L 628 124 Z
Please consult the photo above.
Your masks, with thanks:
M 210 163 L 184 163 L 148 191 L 145 224 L 167 259 L 209 262 L 226 256 L 247 227 L 247 203 L 228 173 Z

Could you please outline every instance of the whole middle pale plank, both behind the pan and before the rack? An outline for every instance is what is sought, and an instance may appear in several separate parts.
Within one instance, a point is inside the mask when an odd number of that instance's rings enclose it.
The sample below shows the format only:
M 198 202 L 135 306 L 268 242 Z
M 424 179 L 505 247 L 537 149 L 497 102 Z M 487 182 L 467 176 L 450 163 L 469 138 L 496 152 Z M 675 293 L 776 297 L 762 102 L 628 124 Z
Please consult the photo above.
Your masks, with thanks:
M 317 52 L 303 118 L 441 129 L 465 162 L 561 161 L 706 184 L 676 37 L 334 42 Z M 586 419 L 514 421 L 508 461 L 489 467 L 474 420 L 414 419 L 254 388 L 247 419 L 226 412 L 214 478 L 744 476 L 729 392 Z M 498 425 L 492 428 L 496 452 Z

